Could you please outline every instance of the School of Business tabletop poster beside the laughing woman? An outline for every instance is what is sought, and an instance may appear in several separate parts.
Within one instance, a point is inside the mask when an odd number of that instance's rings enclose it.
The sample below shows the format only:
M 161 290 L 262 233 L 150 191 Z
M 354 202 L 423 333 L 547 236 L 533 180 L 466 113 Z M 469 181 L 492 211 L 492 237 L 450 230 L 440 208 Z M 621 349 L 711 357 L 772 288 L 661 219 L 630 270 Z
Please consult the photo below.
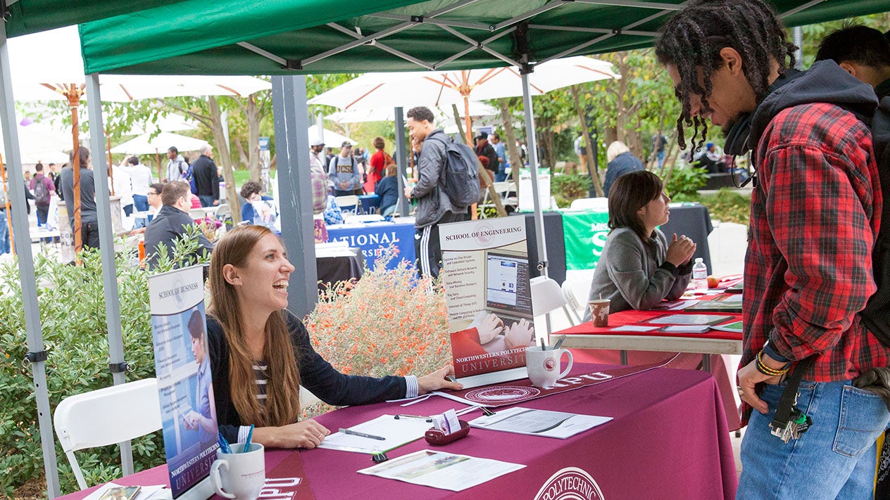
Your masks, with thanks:
M 206 477 L 218 448 L 202 266 L 151 276 L 149 294 L 164 449 L 175 498 Z

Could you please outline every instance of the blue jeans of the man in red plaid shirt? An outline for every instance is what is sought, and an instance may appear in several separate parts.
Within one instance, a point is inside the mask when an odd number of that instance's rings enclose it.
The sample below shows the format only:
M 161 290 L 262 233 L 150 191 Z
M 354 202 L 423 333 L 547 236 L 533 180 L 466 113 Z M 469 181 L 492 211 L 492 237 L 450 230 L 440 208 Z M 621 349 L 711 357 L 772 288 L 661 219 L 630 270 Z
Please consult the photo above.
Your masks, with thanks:
M 890 413 L 878 396 L 850 381 L 802 382 L 797 407 L 813 417 L 798 440 L 770 434 L 785 384 L 766 385 L 760 399 L 770 413 L 754 411 L 741 442 L 737 500 L 842 499 L 872 497 L 877 446 Z

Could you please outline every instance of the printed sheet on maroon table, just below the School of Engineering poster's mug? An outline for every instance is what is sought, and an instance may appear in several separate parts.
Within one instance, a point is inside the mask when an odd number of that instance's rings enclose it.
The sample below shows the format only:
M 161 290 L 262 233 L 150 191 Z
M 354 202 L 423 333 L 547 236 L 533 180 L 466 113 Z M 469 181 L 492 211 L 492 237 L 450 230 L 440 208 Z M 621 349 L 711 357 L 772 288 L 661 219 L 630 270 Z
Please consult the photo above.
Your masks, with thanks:
M 512 407 L 470 421 L 473 427 L 564 440 L 578 432 L 609 422 L 611 416 L 580 415 L 562 411 Z

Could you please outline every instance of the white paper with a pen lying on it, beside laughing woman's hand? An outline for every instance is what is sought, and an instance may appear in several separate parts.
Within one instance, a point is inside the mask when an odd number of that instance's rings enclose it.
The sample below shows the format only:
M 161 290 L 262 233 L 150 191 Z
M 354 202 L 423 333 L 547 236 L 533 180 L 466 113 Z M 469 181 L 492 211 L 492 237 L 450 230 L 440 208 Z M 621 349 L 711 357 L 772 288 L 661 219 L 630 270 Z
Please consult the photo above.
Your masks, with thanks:
M 359 431 L 372 436 L 380 436 L 384 440 L 362 438 L 343 432 L 333 432 L 321 441 L 318 448 L 338 449 L 356 453 L 380 453 L 392 448 L 399 448 L 411 441 L 424 437 L 425 432 L 433 425 L 417 418 L 395 418 L 395 415 L 380 415 L 368 422 L 350 427 L 350 431 Z

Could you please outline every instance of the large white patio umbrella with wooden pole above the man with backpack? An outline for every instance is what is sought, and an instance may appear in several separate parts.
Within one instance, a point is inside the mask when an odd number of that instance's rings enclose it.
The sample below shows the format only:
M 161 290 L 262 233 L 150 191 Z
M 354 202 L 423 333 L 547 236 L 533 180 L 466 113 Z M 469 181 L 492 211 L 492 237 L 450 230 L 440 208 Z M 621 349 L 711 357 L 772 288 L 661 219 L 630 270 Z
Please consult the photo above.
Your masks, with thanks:
M 541 95 L 568 85 L 620 78 L 611 63 L 586 56 L 550 60 L 529 75 L 532 95 Z M 473 124 L 470 101 L 483 101 L 522 95 L 522 76 L 514 67 L 468 69 L 462 71 L 412 71 L 406 73 L 366 73 L 311 100 L 344 111 L 352 109 L 397 108 L 408 105 L 463 105 L 468 143 Z

